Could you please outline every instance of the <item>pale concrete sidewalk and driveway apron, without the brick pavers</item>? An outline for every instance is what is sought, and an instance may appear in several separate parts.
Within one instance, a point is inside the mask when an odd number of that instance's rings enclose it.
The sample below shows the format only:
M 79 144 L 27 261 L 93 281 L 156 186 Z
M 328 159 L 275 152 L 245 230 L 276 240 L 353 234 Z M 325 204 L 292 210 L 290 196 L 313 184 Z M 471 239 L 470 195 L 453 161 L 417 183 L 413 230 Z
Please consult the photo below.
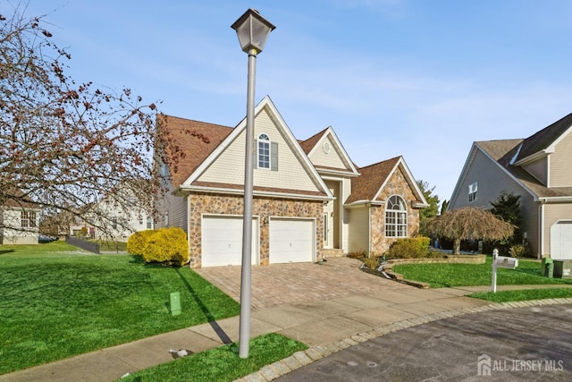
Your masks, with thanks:
M 498 290 L 542 287 L 563 286 L 500 285 Z M 488 290 L 490 286 L 416 289 L 399 284 L 399 288 L 387 288 L 383 293 L 352 293 L 320 301 L 300 299 L 299 302 L 254 309 L 251 313 L 251 336 L 275 332 L 307 344 L 310 346 L 309 352 L 303 352 L 305 355 L 299 354 L 301 360 L 296 359 L 299 367 L 303 362 L 322 358 L 342 346 L 348 347 L 400 327 L 502 307 L 502 304 L 491 304 L 466 297 L 470 293 Z M 523 306 L 522 303 L 510 304 Z M 0 376 L 0 382 L 113 381 L 126 373 L 172 361 L 170 349 L 203 352 L 238 339 L 237 316 L 5 374 Z M 290 365 L 290 369 L 296 366 Z M 261 376 L 243 379 L 261 380 Z M 272 380 L 272 376 L 266 379 Z

